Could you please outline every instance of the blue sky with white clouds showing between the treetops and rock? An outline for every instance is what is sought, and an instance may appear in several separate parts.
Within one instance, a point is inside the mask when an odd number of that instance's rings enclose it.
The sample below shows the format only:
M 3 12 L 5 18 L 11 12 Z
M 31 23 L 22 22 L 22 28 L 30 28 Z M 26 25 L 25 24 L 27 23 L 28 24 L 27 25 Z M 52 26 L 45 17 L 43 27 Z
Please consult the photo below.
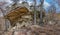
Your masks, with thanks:
M 8 3 L 12 3 L 11 0 L 0 0 L 0 2 L 3 2 L 3 1 L 8 2 Z M 20 0 L 20 1 L 22 1 L 22 0 Z M 33 3 L 33 0 L 27 0 L 27 2 L 28 2 L 29 4 L 31 4 L 31 3 Z M 36 2 L 37 2 L 37 5 L 40 4 L 40 0 L 36 0 Z M 46 10 L 48 10 L 48 8 L 49 8 L 52 4 L 55 5 L 55 7 L 56 7 L 56 9 L 57 9 L 56 11 L 57 11 L 57 12 L 60 12 L 60 0 L 44 0 L 44 8 L 45 8 Z

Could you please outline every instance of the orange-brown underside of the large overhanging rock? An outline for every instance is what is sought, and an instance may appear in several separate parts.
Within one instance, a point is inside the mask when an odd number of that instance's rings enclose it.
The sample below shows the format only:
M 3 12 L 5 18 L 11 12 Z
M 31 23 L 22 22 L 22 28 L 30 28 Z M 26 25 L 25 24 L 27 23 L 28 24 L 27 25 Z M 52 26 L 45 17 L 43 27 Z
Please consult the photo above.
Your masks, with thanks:
M 15 25 L 15 23 L 19 22 L 19 20 L 24 19 L 22 16 L 29 15 L 29 10 L 26 7 L 17 7 L 8 13 L 5 18 L 8 19 L 11 25 Z M 13 26 L 14 26 L 13 25 Z

